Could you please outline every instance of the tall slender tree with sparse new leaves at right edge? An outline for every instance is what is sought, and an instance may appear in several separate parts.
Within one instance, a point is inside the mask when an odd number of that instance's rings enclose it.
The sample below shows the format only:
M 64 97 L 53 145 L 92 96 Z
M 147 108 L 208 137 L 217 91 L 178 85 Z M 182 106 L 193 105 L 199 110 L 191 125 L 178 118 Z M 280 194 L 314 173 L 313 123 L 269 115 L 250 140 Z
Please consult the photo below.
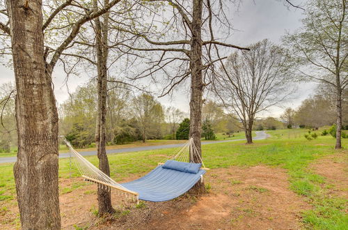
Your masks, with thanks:
M 303 26 L 285 36 L 301 66 L 303 79 L 330 84 L 335 89 L 336 144 L 342 148 L 342 91 L 348 84 L 348 26 L 346 0 L 310 0 Z

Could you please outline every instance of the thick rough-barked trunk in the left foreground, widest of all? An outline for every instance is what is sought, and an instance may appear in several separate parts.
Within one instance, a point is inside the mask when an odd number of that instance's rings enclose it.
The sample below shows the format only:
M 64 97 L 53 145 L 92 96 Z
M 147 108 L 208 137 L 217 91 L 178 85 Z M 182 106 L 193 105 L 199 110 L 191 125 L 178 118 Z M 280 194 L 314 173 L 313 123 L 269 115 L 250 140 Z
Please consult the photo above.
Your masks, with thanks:
M 11 0 L 7 7 L 17 89 L 13 171 L 22 229 L 60 229 L 58 112 L 43 59 L 42 1 Z

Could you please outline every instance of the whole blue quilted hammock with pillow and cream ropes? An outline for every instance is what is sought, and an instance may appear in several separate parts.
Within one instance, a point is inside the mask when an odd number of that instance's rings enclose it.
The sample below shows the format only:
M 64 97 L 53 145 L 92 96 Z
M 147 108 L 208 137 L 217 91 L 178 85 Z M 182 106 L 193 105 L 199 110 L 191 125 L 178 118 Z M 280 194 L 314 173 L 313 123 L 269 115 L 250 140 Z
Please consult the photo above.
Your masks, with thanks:
M 63 140 L 70 149 L 70 159 L 73 159 L 79 173 L 86 181 L 97 183 L 104 189 L 118 190 L 138 202 L 139 199 L 159 202 L 179 197 L 199 180 L 203 181 L 203 174 L 207 170 L 191 138 L 182 148 L 160 162 L 150 173 L 135 181 L 117 183 L 75 151 L 67 139 L 63 137 Z M 191 162 L 193 156 L 200 159 L 202 164 Z

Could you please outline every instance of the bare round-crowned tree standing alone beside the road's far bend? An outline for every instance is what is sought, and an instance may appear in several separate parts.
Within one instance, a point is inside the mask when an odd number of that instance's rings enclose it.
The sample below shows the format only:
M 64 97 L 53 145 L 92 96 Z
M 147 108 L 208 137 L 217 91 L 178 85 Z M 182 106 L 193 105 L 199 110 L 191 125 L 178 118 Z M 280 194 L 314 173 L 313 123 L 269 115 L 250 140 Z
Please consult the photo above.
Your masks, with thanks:
M 223 105 L 242 121 L 246 144 L 253 143 L 256 114 L 280 105 L 294 92 L 289 56 L 281 47 L 262 40 L 250 49 L 231 54 L 214 82 Z

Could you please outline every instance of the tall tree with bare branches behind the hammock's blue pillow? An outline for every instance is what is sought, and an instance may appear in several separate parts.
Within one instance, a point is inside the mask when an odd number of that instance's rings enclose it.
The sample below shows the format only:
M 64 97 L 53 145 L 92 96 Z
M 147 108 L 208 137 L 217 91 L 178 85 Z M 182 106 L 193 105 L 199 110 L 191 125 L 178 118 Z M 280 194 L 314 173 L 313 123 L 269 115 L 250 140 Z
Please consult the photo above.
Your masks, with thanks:
M 152 0 L 150 2 L 159 2 L 168 9 L 166 19 L 159 31 L 152 29 L 158 27 L 157 15 L 150 18 L 150 27 L 141 28 L 141 24 L 132 24 L 123 30 L 139 36 L 140 44 L 144 40 L 149 47 L 135 47 L 134 45 L 124 45 L 127 49 L 137 52 L 155 52 L 155 60 L 150 59 L 149 68 L 141 71 L 133 79 L 142 79 L 143 77 L 152 77 L 155 79 L 158 72 L 164 72 L 167 77 L 166 86 L 161 92 L 161 96 L 171 93 L 175 86 L 187 80 L 191 82 L 190 96 L 190 133 L 193 141 L 201 155 L 200 133 L 202 126 L 202 105 L 203 91 L 209 84 L 209 77 L 215 72 L 214 63 L 225 59 L 220 56 L 219 47 L 231 47 L 235 49 L 248 49 L 222 43 L 215 38 L 217 29 L 226 28 L 226 33 L 230 31 L 231 25 L 228 22 L 225 10 L 228 8 L 223 1 L 210 0 Z M 164 36 L 166 34 L 166 36 Z M 228 34 L 226 35 L 228 37 Z M 147 56 L 149 59 L 149 57 Z M 157 59 L 158 58 L 158 59 Z M 163 79 L 163 75 L 160 75 Z M 201 157 L 193 155 L 193 162 L 200 162 Z M 196 193 L 205 192 L 203 183 L 198 182 L 193 191 Z

